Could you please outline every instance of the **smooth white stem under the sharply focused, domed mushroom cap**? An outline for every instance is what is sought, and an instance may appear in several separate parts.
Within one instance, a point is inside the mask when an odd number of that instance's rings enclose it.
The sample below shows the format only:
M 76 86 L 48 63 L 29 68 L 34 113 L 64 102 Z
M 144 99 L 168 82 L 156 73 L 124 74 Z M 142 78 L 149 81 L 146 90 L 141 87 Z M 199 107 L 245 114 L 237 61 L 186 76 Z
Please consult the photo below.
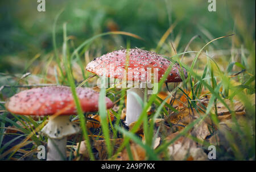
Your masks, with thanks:
M 142 101 L 144 100 L 144 91 L 139 88 L 131 88 L 127 90 L 127 104 L 126 104 L 126 124 L 130 125 L 134 121 L 137 121 L 139 115 L 142 112 L 142 106 L 138 102 L 137 98 L 133 95 L 137 94 L 141 97 Z

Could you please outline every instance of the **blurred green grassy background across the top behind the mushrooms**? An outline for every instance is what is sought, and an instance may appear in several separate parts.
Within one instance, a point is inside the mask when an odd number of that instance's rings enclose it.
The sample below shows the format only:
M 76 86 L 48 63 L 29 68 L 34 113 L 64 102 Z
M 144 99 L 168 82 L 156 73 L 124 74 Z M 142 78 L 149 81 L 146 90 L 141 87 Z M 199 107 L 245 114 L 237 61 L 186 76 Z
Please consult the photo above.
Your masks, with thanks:
M 129 36 L 110 35 L 98 38 L 90 49 L 95 56 L 120 46 L 154 49 L 168 28 L 176 27 L 168 41 L 179 40 L 178 52 L 184 51 L 195 35 L 191 49 L 198 50 L 216 37 L 236 34 L 232 41 L 214 43 L 216 49 L 241 48 L 255 52 L 255 1 L 216 1 L 216 12 L 209 12 L 206 0 L 46 0 L 46 12 L 38 12 L 36 1 L 10 0 L 0 2 L 0 72 L 23 73 L 26 64 L 36 54 L 53 52 L 52 26 L 57 21 L 57 47 L 63 43 L 63 23 L 67 22 L 68 35 L 74 47 L 82 41 L 108 31 L 125 31 L 141 36 L 144 41 Z M 164 47 L 163 47 L 164 48 Z

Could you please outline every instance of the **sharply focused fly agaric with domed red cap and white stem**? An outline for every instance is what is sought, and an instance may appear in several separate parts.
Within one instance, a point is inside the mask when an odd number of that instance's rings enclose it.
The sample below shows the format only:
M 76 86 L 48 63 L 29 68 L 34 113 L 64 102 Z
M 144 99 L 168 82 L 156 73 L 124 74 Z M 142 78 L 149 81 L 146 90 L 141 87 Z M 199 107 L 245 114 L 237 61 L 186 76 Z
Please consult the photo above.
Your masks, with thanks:
M 126 56 L 129 56 L 129 63 L 126 61 Z M 159 82 L 170 65 L 171 62 L 160 54 L 137 48 L 129 50 L 121 49 L 119 51 L 110 52 L 101 57 L 94 58 L 94 60 L 89 62 L 86 66 L 86 70 L 100 76 L 105 75 L 109 78 L 125 78 L 127 81 L 141 82 L 146 80 L 148 81 L 148 78 L 151 78 L 152 69 L 155 69 L 156 74 L 158 74 L 159 77 L 156 78 L 156 80 L 154 78 L 154 81 Z M 148 71 L 147 69 L 150 70 Z M 179 71 L 182 71 L 185 78 L 187 78 L 186 70 L 184 68 L 181 69 L 179 64 L 174 64 L 166 82 L 181 82 L 182 79 Z M 130 75 L 130 73 L 132 75 Z M 131 88 L 127 90 L 127 125 L 137 121 L 142 112 L 142 107 L 134 97 L 133 93 L 139 95 L 142 100 L 144 97 L 143 89 L 141 88 Z

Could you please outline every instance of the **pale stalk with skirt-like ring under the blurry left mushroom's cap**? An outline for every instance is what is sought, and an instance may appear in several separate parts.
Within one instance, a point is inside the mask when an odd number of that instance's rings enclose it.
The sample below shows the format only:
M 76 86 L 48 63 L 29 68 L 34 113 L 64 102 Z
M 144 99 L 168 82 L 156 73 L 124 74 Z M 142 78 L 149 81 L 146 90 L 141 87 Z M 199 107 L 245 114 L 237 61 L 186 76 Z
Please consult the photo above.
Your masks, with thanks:
M 67 137 L 79 130 L 79 126 L 69 121 L 68 115 L 50 116 L 42 129 L 42 133 L 48 136 L 47 161 L 66 160 Z

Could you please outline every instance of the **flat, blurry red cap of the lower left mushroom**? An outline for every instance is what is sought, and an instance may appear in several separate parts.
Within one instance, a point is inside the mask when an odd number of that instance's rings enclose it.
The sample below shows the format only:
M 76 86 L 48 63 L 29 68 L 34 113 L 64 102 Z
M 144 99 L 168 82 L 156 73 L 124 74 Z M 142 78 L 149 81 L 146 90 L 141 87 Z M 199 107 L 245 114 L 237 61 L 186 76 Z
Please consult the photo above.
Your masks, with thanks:
M 77 88 L 82 110 L 84 112 L 98 111 L 99 94 L 88 88 Z M 5 104 L 8 111 L 19 115 L 52 115 L 61 111 L 60 115 L 77 114 L 75 101 L 70 87 L 49 86 L 20 91 Z M 106 107 L 111 108 L 112 101 L 106 98 Z

